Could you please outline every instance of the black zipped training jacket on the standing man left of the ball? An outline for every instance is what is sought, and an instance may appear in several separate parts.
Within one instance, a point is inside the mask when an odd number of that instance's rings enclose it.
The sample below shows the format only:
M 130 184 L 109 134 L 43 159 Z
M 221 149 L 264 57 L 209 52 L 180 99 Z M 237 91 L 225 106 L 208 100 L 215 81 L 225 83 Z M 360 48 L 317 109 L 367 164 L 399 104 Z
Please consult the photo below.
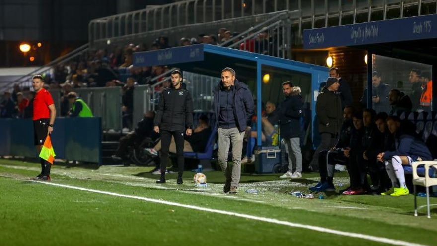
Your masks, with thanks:
M 156 110 L 155 126 L 161 130 L 185 132 L 193 127 L 193 99 L 188 90 L 173 87 L 161 92 Z

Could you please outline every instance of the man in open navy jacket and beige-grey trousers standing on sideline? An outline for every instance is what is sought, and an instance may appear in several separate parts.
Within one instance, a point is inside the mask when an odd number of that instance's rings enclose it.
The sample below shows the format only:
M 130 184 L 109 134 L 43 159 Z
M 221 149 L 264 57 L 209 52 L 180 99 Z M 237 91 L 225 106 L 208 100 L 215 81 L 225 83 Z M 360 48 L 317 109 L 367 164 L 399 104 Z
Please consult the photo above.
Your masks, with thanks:
M 221 71 L 221 82 L 214 89 L 214 112 L 218 126 L 218 163 L 226 177 L 224 193 L 237 193 L 241 175 L 241 151 L 245 131 L 253 115 L 252 93 L 246 84 L 235 79 L 232 68 Z M 232 168 L 227 165 L 229 146 L 232 144 Z

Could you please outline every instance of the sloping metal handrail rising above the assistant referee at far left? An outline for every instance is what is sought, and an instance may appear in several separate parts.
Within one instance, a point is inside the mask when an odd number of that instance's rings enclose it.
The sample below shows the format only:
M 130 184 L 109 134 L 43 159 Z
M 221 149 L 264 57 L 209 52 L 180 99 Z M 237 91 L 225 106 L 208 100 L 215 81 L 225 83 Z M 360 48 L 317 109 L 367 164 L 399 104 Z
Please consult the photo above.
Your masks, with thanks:
M 55 60 L 49 62 L 48 64 L 39 67 L 38 69 L 32 71 L 31 73 L 28 73 L 28 74 L 16 79 L 15 81 L 10 82 L 6 86 L 3 86 L 0 88 L 0 93 L 4 92 L 4 91 L 12 90 L 12 88 L 15 84 L 18 84 L 21 87 L 23 87 L 23 86 L 31 87 L 32 86 L 31 78 L 33 75 L 36 75 L 36 74 L 44 75 L 46 73 L 52 74 L 53 67 L 57 66 L 58 64 L 66 63 L 66 62 L 72 60 L 73 58 L 86 53 L 88 51 L 88 47 L 89 47 L 89 44 L 84 44 L 84 45 L 78 47 L 77 49 L 67 53 L 66 55 L 60 56 L 60 57 L 56 58 Z

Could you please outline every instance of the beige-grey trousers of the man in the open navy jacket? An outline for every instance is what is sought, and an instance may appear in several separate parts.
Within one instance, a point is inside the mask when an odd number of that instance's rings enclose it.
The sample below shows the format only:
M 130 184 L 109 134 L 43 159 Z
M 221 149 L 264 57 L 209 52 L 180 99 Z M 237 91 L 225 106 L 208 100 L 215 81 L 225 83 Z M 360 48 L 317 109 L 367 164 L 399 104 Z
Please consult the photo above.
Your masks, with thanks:
M 244 132 L 240 132 L 238 128 L 224 129 L 218 128 L 218 163 L 226 177 L 226 183 L 231 183 L 231 186 L 238 186 L 241 176 L 241 152 L 243 149 Z M 227 156 L 229 147 L 232 143 L 232 167 L 227 164 Z

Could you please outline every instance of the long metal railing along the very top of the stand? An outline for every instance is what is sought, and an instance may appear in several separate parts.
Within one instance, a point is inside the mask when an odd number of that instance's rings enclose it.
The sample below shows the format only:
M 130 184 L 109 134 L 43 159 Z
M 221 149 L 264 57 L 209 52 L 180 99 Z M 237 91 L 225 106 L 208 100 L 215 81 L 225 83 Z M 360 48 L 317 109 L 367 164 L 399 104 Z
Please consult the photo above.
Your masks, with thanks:
M 89 41 L 91 44 L 99 40 L 106 42 L 281 10 L 300 11 L 292 19 L 292 23 L 298 25 L 297 36 L 300 37 L 303 27 L 342 25 L 345 19 L 356 23 L 435 13 L 436 0 L 184 0 L 94 19 L 88 25 Z

